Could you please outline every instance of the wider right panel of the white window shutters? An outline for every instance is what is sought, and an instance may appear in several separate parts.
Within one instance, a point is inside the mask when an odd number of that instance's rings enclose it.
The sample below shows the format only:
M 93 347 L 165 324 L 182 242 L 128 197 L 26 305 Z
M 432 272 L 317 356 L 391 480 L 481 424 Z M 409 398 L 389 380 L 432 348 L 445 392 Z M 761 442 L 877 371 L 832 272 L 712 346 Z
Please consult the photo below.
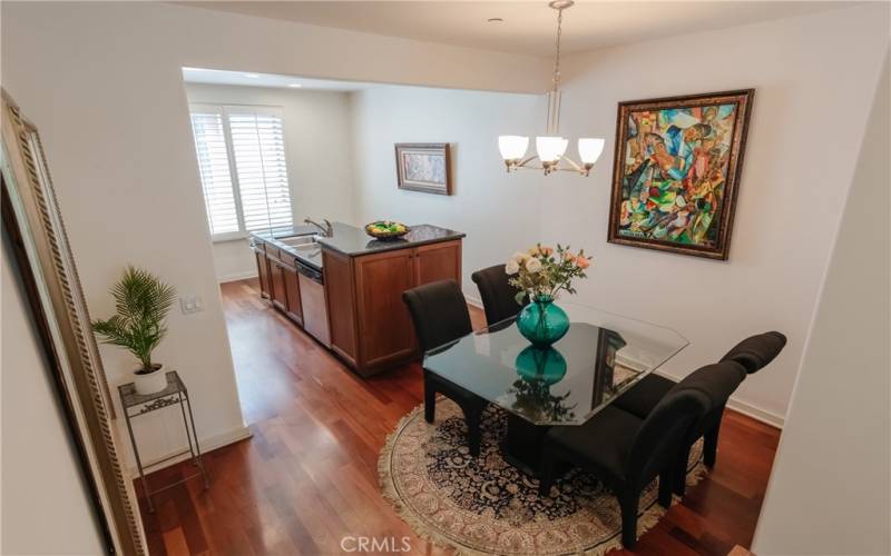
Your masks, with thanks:
M 245 230 L 292 225 L 281 111 L 227 107 Z

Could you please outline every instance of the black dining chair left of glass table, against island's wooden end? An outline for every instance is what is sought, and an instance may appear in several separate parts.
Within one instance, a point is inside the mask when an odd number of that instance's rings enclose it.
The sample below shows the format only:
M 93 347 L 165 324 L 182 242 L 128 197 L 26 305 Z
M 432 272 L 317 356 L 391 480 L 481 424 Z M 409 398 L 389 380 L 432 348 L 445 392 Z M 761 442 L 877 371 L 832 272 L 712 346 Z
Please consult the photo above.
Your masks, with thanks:
M 470 314 L 461 287 L 454 280 L 440 280 L 405 290 L 402 299 L 409 307 L 421 350 L 442 347 L 472 331 Z M 488 405 L 486 399 L 427 369 L 424 375 L 424 419 L 435 418 L 437 393 L 461 407 L 467 423 L 467 439 L 471 456 L 480 454 L 480 418 Z

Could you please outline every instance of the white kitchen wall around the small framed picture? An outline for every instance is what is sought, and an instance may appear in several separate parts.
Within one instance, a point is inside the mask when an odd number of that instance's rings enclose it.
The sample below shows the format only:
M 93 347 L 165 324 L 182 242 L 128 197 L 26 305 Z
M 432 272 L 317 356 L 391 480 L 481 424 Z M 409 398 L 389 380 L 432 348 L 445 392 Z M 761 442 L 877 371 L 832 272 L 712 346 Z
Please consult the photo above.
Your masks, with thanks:
M 356 219 L 433 224 L 466 232 L 463 289 L 479 298 L 470 274 L 502 262 L 539 234 L 541 177 L 508 175 L 496 138 L 535 132 L 545 110 L 541 97 L 530 95 L 417 87 L 353 93 Z M 454 195 L 399 189 L 396 142 L 450 143 Z

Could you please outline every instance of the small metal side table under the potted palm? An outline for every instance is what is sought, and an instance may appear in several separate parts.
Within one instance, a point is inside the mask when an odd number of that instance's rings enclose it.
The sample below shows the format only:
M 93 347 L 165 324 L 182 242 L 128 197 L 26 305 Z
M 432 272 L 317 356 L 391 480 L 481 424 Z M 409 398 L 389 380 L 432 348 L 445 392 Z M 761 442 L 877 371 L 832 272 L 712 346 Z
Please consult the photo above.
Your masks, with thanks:
M 193 417 L 192 415 L 192 401 L 189 400 L 186 385 L 183 384 L 183 380 L 179 378 L 179 375 L 175 370 L 168 371 L 166 377 L 167 377 L 167 387 L 158 393 L 149 394 L 147 396 L 141 396 L 139 394 L 136 394 L 136 387 L 134 386 L 133 383 L 118 386 L 118 394 L 120 395 L 120 404 L 121 406 L 124 406 L 124 418 L 127 421 L 127 431 L 130 434 L 130 444 L 133 445 L 133 453 L 136 456 L 136 466 L 139 468 L 139 478 L 143 481 L 143 489 L 146 493 L 146 500 L 148 502 L 149 512 L 155 512 L 155 506 L 151 504 L 151 495 L 158 494 L 161 490 L 166 490 L 177 485 L 182 485 L 183 483 L 189 479 L 194 479 L 196 477 L 202 477 L 204 479 L 205 489 L 210 486 L 210 483 L 207 479 L 207 471 L 204 468 L 204 459 L 202 459 L 202 450 L 198 447 L 198 434 L 195 431 L 195 417 Z M 139 457 L 139 448 L 136 445 L 136 436 L 133 433 L 133 424 L 130 420 L 134 417 L 139 417 L 140 415 L 151 413 L 156 409 L 161 409 L 164 407 L 177 404 L 179 404 L 179 409 L 183 413 L 183 425 L 186 427 L 186 438 L 188 439 L 188 449 L 177 451 L 176 454 L 167 456 L 164 459 L 160 459 L 158 461 L 155 461 L 153 464 L 143 467 L 143 459 Z M 186 416 L 186 407 L 188 407 L 188 416 Z M 183 477 L 176 483 L 173 483 L 165 487 L 150 490 L 148 488 L 148 481 L 146 480 L 145 470 L 149 467 L 155 467 L 159 464 L 183 456 L 185 454 L 192 455 L 192 463 L 193 465 L 195 465 L 195 467 L 198 468 L 198 471 L 187 477 Z

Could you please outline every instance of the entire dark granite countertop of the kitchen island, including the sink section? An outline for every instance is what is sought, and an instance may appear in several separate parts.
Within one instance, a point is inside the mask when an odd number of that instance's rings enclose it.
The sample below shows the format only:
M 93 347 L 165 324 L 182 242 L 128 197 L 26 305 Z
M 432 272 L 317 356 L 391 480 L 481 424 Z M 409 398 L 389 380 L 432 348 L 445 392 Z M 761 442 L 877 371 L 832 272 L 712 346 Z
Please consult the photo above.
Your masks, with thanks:
M 315 249 L 295 249 L 287 244 L 278 241 L 278 239 L 293 236 L 311 236 L 319 234 L 320 230 L 315 226 L 293 226 L 274 230 L 260 230 L 252 231 L 251 235 L 274 245 L 280 250 L 316 270 L 322 270 L 322 248 L 331 249 L 349 257 L 356 257 L 372 252 L 391 251 L 404 249 L 407 247 L 460 239 L 466 236 L 463 232 L 440 228 L 439 226 L 419 224 L 409 226 L 409 232 L 399 239 L 380 240 L 372 238 L 365 234 L 364 229 L 356 228 L 355 226 L 334 222 L 332 227 L 334 228 L 333 236 L 330 238 L 319 236 L 319 246 Z

